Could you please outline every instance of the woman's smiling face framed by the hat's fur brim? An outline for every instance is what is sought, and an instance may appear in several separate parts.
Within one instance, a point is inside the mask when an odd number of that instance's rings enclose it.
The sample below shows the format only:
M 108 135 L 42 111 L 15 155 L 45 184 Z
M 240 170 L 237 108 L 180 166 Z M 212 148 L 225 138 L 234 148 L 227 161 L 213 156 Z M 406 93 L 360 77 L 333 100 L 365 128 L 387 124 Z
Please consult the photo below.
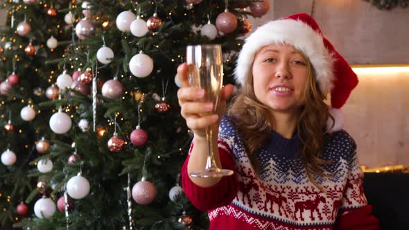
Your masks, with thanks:
M 293 46 L 263 46 L 254 57 L 252 74 L 256 98 L 273 112 L 294 113 L 304 105 L 308 62 Z

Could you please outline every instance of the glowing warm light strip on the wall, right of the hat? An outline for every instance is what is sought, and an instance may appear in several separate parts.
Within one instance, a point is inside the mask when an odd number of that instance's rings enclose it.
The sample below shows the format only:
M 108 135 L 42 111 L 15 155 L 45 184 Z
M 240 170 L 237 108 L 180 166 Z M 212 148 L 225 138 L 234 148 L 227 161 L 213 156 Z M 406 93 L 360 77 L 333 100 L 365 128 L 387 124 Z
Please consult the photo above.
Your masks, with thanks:
M 409 74 L 409 64 L 351 64 L 352 69 L 360 74 Z

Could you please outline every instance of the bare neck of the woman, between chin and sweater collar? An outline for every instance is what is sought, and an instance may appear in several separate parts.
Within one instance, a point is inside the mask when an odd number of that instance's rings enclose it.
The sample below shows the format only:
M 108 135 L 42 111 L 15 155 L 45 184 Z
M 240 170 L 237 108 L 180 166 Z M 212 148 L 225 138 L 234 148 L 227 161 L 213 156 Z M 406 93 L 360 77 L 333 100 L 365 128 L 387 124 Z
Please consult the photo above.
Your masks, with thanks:
M 272 116 L 275 119 L 273 130 L 286 139 L 292 138 L 297 126 L 298 116 L 282 112 L 272 112 Z

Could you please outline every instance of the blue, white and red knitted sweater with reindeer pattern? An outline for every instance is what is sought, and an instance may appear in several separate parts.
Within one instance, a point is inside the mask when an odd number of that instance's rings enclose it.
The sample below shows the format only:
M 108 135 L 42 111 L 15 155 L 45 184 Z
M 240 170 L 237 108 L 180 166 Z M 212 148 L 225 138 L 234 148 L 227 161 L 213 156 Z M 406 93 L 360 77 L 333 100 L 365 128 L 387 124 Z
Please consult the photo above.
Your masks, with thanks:
M 342 130 L 324 144 L 322 159 L 332 161 L 324 168 L 333 177 L 314 175 L 324 191 L 310 182 L 303 164 L 295 159 L 299 147 L 297 135 L 285 139 L 272 132 L 256 155 L 258 177 L 236 127 L 224 116 L 218 150 L 223 168 L 234 170 L 234 175 L 208 188 L 195 185 L 187 174 L 190 150 L 182 168 L 182 187 L 196 208 L 208 211 L 211 230 L 378 229 L 363 193 L 354 139 Z

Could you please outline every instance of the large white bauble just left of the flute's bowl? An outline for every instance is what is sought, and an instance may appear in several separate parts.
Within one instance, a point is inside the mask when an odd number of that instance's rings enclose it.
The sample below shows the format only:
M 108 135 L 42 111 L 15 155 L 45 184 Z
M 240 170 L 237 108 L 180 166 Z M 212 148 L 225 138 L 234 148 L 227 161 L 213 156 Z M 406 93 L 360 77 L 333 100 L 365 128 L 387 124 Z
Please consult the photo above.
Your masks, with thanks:
M 153 60 L 144 53 L 138 53 L 131 58 L 129 69 L 134 76 L 145 78 L 153 71 Z

